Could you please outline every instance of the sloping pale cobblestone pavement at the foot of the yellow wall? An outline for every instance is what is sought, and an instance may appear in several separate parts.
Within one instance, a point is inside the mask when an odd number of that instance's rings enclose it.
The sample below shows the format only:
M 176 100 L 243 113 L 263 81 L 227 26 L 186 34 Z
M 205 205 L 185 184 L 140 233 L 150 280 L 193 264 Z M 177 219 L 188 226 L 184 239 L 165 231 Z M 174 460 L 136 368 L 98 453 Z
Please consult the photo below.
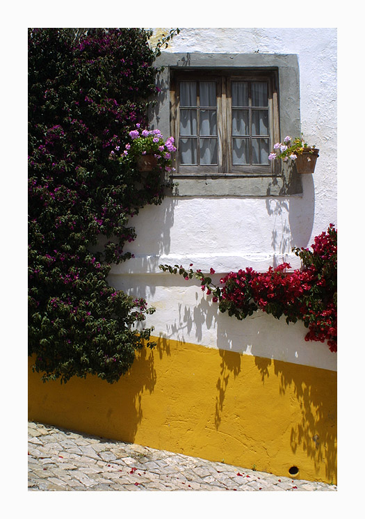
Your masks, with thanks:
M 29 490 L 337 490 L 29 422 Z

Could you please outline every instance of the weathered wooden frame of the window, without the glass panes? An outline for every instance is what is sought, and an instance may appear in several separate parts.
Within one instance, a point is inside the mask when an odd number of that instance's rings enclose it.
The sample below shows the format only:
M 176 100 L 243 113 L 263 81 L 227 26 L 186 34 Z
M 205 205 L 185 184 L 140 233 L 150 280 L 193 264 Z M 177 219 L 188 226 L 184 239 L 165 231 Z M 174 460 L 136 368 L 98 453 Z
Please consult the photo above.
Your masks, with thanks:
M 180 81 L 216 81 L 218 166 L 184 165 L 179 161 L 179 83 Z M 232 81 L 267 81 L 269 115 L 269 153 L 279 142 L 278 77 L 276 70 L 174 70 L 170 76 L 171 134 L 177 143 L 177 177 L 273 177 L 280 175 L 277 161 L 266 164 L 232 164 Z M 250 110 L 251 113 L 251 110 Z M 199 130 L 198 134 L 199 134 Z M 252 136 L 250 136 L 252 138 Z

